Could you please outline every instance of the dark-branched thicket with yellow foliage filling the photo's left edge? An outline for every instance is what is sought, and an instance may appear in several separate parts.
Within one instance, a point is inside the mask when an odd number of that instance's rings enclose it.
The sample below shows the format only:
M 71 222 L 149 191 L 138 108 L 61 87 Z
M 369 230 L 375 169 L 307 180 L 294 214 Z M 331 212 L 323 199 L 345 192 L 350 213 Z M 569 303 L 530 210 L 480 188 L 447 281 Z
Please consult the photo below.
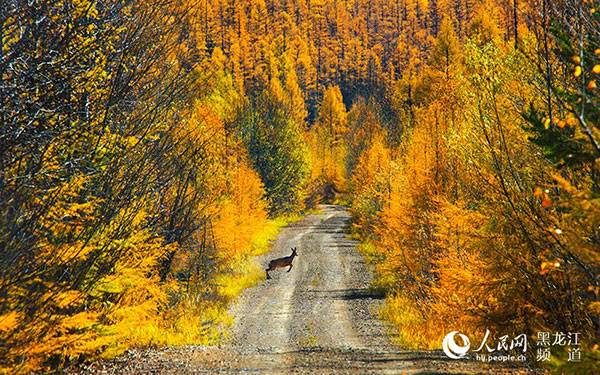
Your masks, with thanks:
M 191 85 L 172 4 L 1 7 L 0 367 L 30 372 L 127 346 L 166 302 L 148 212 Z

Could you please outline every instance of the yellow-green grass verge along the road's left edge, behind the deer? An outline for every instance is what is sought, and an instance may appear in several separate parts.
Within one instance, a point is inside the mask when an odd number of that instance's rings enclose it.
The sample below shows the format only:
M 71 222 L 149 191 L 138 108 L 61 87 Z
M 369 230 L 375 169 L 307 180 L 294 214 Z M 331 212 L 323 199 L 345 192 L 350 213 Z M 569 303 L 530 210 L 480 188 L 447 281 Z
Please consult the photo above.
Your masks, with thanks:
M 233 317 L 227 313 L 229 303 L 245 288 L 264 279 L 264 271 L 252 262 L 256 256 L 267 253 L 272 241 L 286 225 L 302 220 L 299 214 L 280 216 L 267 220 L 252 238 L 247 255 L 235 259 L 225 269 L 213 275 L 207 287 L 191 281 L 185 289 L 171 282 L 170 302 L 156 319 L 146 319 L 144 324 L 132 328 L 135 342 L 131 349 L 181 345 L 212 345 L 228 336 Z M 128 347 L 108 347 L 99 355 L 101 361 L 110 360 L 125 352 Z M 75 364 L 75 363 L 74 363 Z M 77 371 L 72 367 L 69 371 Z

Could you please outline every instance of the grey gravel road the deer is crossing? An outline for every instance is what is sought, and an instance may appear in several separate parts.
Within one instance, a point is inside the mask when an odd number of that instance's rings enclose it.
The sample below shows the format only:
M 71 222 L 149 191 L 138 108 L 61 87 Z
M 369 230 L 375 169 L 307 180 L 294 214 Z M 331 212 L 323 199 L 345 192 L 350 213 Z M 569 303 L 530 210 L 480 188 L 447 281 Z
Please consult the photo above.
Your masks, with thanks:
M 298 248 L 291 272 L 271 272 L 231 306 L 235 322 L 224 344 L 130 351 L 104 373 L 515 373 L 393 345 L 377 319 L 382 297 L 369 291 L 371 272 L 348 239 L 349 214 L 332 205 L 321 211 L 284 228 L 273 251 L 257 259 L 266 265 Z

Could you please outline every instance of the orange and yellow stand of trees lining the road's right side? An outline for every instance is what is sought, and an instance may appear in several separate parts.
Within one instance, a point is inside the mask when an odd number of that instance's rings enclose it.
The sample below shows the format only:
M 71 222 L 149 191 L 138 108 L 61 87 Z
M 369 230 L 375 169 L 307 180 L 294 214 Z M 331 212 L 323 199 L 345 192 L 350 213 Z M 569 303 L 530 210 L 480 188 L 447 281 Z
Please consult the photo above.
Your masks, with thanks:
M 587 11 L 574 19 L 595 27 Z M 600 50 L 567 25 L 568 58 L 545 51 L 545 38 L 567 45 L 551 34 L 520 30 L 515 49 L 498 18 L 493 2 L 481 6 L 458 45 L 443 23 L 428 69 L 405 72 L 395 100 L 402 142 L 387 155 L 372 142 L 353 170 L 354 229 L 403 345 L 439 348 L 452 330 L 585 332 L 587 358 L 569 362 L 557 348 L 548 366 L 593 373 Z

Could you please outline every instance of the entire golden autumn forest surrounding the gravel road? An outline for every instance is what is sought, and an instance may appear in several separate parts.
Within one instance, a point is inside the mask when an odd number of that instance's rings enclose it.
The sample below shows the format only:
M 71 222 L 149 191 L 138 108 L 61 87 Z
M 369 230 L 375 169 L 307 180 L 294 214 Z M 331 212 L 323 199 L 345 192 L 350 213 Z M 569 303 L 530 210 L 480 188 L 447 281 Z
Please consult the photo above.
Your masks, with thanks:
M 537 365 L 600 371 L 597 6 L 0 1 L 0 373 L 218 341 L 325 201 L 401 345 L 578 332 Z

